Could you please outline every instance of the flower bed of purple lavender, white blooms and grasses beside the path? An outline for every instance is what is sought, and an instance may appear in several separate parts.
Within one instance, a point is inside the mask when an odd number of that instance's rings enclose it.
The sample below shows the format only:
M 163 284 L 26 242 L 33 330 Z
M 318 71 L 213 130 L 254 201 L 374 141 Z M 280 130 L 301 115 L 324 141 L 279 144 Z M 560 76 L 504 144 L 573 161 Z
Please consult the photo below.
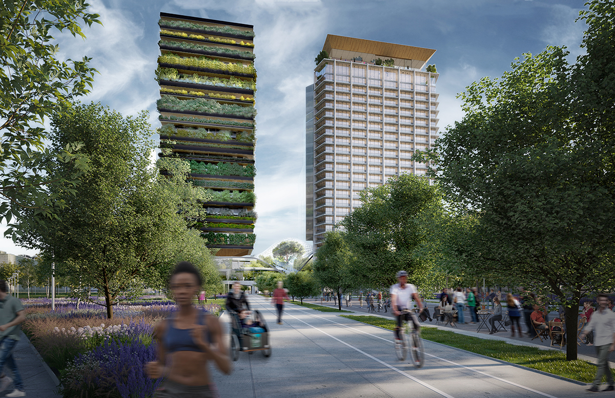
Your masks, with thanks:
M 156 297 L 160 298 L 160 297 Z M 23 300 L 22 329 L 62 381 L 64 397 L 150 398 L 161 379 L 143 370 L 156 358 L 154 325 L 176 310 L 170 300 L 114 306 L 114 318 L 96 303 L 57 299 Z M 220 305 L 199 305 L 210 313 Z

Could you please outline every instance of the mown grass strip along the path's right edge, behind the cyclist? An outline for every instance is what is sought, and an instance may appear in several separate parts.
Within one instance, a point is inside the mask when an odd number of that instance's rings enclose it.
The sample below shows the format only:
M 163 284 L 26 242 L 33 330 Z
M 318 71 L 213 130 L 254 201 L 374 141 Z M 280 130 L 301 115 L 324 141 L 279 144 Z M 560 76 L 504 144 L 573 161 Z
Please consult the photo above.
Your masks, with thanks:
M 383 327 L 384 329 L 393 330 L 395 328 L 395 321 L 392 319 L 379 318 L 378 316 L 341 316 L 373 326 Z M 566 361 L 565 351 L 517 346 L 499 340 L 487 340 L 485 338 L 456 334 L 435 327 L 422 327 L 421 336 L 425 340 L 434 341 L 435 343 L 461 348 L 470 351 L 470 353 L 482 354 L 500 359 L 501 361 L 511 362 L 584 383 L 591 383 L 596 374 L 596 365 L 590 362 L 583 361 L 582 359 Z M 615 377 L 615 372 L 613 372 L 613 375 Z

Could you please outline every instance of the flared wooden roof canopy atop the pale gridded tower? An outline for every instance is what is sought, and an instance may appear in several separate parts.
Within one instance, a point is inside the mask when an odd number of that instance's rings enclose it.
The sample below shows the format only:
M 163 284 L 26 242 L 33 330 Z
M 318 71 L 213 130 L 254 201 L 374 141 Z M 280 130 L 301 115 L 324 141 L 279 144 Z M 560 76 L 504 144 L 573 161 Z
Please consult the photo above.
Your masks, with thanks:
M 341 60 L 351 60 L 361 57 L 363 61 L 370 62 L 374 58 L 393 58 L 395 66 L 422 69 L 434 55 L 435 50 L 414 47 L 412 45 L 393 44 L 373 40 L 355 39 L 354 37 L 335 36 L 327 34 L 325 44 L 322 46 L 329 57 Z

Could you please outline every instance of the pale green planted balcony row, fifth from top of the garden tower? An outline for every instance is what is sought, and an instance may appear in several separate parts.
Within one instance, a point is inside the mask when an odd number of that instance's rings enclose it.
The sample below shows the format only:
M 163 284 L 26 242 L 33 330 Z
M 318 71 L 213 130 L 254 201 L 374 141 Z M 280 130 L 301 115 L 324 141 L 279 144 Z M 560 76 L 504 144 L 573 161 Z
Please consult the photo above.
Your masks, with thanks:
M 238 93 L 252 94 L 256 90 L 256 82 L 254 79 L 239 79 L 234 76 L 227 77 L 210 77 L 200 76 L 198 74 L 180 73 L 176 68 L 161 68 L 156 69 L 156 80 L 162 85 L 172 85 L 170 82 L 182 84 L 183 87 L 201 88 L 204 90 L 213 90 L 215 87 L 223 87 Z M 216 89 L 220 90 L 220 89 Z

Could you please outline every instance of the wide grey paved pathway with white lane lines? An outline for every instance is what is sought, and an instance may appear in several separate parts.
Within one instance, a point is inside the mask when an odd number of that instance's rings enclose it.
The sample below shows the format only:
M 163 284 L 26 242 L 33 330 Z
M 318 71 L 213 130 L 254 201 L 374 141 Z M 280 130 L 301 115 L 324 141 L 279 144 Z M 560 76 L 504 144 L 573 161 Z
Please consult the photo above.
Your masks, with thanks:
M 585 397 L 585 386 L 425 341 L 415 369 L 394 354 L 392 332 L 288 304 L 284 325 L 250 296 L 271 327 L 272 356 L 240 353 L 231 375 L 214 371 L 221 397 Z M 223 316 L 223 322 L 228 317 Z M 612 396 L 598 392 L 595 396 Z

